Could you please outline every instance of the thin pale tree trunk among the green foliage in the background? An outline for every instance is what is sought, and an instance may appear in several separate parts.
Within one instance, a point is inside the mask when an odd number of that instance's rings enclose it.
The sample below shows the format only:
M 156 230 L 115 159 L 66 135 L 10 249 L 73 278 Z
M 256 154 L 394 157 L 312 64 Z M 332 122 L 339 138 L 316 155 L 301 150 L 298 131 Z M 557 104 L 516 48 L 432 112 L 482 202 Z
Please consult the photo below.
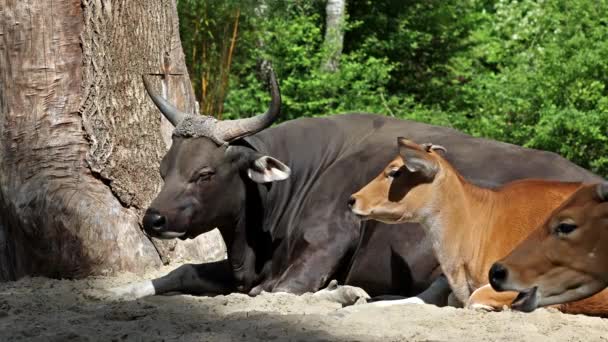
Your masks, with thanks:
M 344 42 L 346 0 L 327 0 L 326 27 L 325 27 L 325 52 L 327 57 L 323 62 L 323 69 L 336 72 L 340 67 L 340 56 Z

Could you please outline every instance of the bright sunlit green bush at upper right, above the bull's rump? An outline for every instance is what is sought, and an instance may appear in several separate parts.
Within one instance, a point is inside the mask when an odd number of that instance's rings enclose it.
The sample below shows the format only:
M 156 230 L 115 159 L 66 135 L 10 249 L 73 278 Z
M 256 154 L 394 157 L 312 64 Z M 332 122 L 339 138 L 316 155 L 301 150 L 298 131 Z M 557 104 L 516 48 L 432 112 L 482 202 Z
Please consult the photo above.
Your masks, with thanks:
M 498 1 L 451 60 L 442 108 L 476 135 L 556 151 L 608 174 L 608 2 Z

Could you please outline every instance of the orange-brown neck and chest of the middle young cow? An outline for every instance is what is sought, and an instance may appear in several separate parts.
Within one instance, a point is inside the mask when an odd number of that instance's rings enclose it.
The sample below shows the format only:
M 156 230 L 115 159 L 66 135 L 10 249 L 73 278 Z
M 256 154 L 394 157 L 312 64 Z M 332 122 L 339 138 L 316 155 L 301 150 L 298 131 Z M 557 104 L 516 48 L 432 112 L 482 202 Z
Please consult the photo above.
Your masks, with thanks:
M 466 181 L 450 165 L 442 171 L 432 208 L 421 215 L 442 269 L 460 300 L 485 281 L 484 246 L 493 238 L 493 209 L 500 194 Z

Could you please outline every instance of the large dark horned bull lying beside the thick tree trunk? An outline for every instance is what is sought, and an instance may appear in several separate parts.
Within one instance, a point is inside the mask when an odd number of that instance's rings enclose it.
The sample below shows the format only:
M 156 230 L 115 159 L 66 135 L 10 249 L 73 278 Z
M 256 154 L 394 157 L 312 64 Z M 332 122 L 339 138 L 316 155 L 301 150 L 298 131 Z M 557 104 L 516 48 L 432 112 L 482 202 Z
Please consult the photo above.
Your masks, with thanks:
M 394 157 L 398 136 L 448 147 L 449 161 L 483 186 L 526 177 L 599 180 L 553 153 L 379 115 L 306 118 L 267 128 L 280 111 L 278 85 L 274 75 L 270 79 L 270 109 L 234 121 L 181 113 L 146 82 L 176 129 L 161 164 L 165 184 L 144 228 L 152 236 L 184 239 L 217 227 L 228 259 L 184 265 L 121 288 L 121 294 L 299 294 L 330 279 L 371 295 L 419 293 L 438 274 L 422 230 L 362 222 L 347 205 L 350 194 Z

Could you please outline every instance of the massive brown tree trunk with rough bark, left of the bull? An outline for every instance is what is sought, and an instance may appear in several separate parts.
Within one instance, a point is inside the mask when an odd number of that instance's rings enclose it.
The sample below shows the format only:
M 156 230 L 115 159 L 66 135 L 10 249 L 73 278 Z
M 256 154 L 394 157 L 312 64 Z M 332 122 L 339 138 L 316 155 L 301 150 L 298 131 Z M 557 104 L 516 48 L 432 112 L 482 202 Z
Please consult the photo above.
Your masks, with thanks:
M 144 74 L 195 111 L 174 1 L 0 0 L 0 280 L 223 255 L 140 228 L 172 131 Z

